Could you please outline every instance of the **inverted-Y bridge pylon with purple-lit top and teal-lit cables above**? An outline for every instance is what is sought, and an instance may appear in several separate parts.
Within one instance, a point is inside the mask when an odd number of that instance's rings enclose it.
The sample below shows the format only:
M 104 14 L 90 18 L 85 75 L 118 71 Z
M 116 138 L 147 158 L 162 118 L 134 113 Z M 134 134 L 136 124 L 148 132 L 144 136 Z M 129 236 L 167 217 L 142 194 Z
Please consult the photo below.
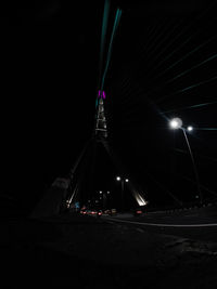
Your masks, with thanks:
M 107 123 L 106 123 L 106 117 L 105 117 L 105 92 L 104 92 L 104 82 L 111 61 L 111 54 L 112 54 L 112 47 L 113 41 L 115 38 L 115 34 L 117 30 L 117 26 L 120 19 L 122 10 L 117 8 L 114 18 L 114 25 L 113 29 L 111 31 L 111 39 L 108 41 L 108 48 L 107 48 L 107 55 L 105 57 L 105 62 L 103 61 L 103 54 L 104 54 L 104 45 L 105 45 L 105 37 L 106 37 L 106 30 L 107 30 L 107 22 L 108 22 L 108 11 L 110 11 L 110 0 L 105 0 L 104 5 L 104 14 L 103 14 L 103 23 L 102 23 L 102 37 L 101 37 L 101 49 L 100 49 L 100 68 L 99 68 L 99 83 L 98 83 L 98 94 L 95 100 L 95 117 L 94 117 L 94 127 L 93 127 L 93 135 L 92 137 L 87 142 L 86 146 L 81 150 L 80 155 L 78 156 L 77 161 L 75 162 L 75 166 L 71 170 L 69 179 L 71 179 L 71 189 L 68 194 L 68 203 L 76 202 L 76 200 L 79 199 L 79 185 L 88 184 L 86 185 L 86 188 L 84 189 L 84 199 L 87 202 L 89 201 L 93 194 L 93 175 L 95 172 L 95 167 L 100 166 L 100 169 L 103 168 L 104 158 L 102 157 L 100 159 L 101 165 L 95 163 L 99 147 L 103 147 L 108 155 L 108 158 L 113 162 L 114 167 L 116 167 L 116 170 L 122 175 L 129 175 L 128 172 L 125 170 L 122 161 L 119 160 L 118 156 L 115 154 L 115 152 L 112 149 L 110 140 L 107 137 Z M 102 69 L 103 63 L 105 64 L 104 69 Z M 82 166 L 86 159 L 90 159 L 90 168 L 88 170 L 88 178 L 86 180 L 82 179 L 82 171 L 85 171 L 86 165 Z M 76 178 L 76 174 L 79 175 Z M 89 179 L 89 181 L 88 181 Z M 78 185 L 77 185 L 78 184 Z M 130 182 L 128 183 L 128 187 L 131 192 L 131 194 L 135 196 L 135 199 L 137 200 L 139 206 L 144 206 L 146 202 L 143 198 L 143 196 L 140 194 L 141 188 L 137 188 L 130 179 Z M 92 194 L 92 196 L 91 196 Z M 80 198 L 81 199 L 81 198 Z

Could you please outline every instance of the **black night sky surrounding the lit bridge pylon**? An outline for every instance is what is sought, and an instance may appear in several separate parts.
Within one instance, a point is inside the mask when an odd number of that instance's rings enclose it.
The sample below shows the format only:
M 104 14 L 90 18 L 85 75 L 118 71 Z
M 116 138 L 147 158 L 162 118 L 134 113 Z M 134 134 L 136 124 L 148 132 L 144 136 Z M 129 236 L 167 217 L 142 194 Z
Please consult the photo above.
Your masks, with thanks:
M 1 191 L 25 205 L 68 173 L 92 134 L 103 6 L 53 0 L 2 9 Z M 213 198 L 217 130 L 201 129 L 217 128 L 217 3 L 112 1 L 106 48 L 117 6 L 104 87 L 111 144 L 151 202 L 173 200 L 167 191 L 192 201 L 188 146 L 181 130 L 168 128 L 180 117 L 197 128 L 189 141 L 204 196 Z M 191 107 L 204 103 L 212 104 Z

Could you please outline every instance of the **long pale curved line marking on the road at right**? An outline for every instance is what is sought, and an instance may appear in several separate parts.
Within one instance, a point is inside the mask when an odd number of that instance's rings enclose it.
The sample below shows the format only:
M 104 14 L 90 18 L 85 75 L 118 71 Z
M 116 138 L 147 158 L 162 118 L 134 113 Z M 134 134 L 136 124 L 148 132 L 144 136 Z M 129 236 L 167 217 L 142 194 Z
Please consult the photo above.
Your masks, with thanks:
M 176 225 L 176 224 L 157 224 L 157 223 L 131 222 L 131 221 L 125 221 L 125 220 L 112 219 L 112 218 L 105 218 L 105 220 L 111 220 L 111 221 L 122 222 L 122 223 L 136 224 L 136 225 L 158 226 L 158 227 L 214 227 L 214 226 L 217 226 L 217 223 L 213 223 L 213 224 L 190 224 L 190 225 L 181 224 L 181 225 Z

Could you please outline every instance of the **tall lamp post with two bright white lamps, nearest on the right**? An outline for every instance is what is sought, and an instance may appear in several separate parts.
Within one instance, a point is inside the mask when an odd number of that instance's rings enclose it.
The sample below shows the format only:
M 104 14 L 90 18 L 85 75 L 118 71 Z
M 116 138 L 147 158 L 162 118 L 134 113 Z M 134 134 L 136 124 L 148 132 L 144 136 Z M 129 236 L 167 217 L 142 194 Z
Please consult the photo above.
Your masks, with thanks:
M 203 202 L 203 196 L 202 196 L 202 192 L 201 192 L 201 186 L 200 186 L 200 179 L 199 179 L 199 173 L 196 170 L 196 166 L 195 166 L 195 161 L 194 161 L 194 157 L 193 157 L 193 153 L 191 150 L 191 146 L 189 143 L 189 139 L 187 136 L 187 131 L 188 132 L 192 132 L 193 131 L 193 127 L 189 126 L 187 127 L 187 130 L 182 127 L 182 120 L 180 118 L 174 118 L 169 121 L 169 126 L 171 129 L 177 130 L 177 129 L 181 129 L 181 131 L 183 132 L 188 148 L 189 148 L 189 153 L 191 156 L 191 160 L 192 160 L 192 165 L 193 165 L 193 170 L 194 170 L 194 175 L 195 175 L 195 180 L 196 180 L 196 186 L 197 186 L 197 193 L 199 193 L 199 197 L 200 197 L 200 202 Z M 196 196 L 197 197 L 197 196 Z

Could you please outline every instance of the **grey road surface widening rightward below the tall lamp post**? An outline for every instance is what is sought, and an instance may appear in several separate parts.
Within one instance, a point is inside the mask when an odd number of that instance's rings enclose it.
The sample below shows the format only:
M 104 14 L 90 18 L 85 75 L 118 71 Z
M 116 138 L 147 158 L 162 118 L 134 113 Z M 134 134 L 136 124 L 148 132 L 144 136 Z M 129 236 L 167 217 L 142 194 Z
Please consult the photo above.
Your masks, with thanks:
M 192 208 L 176 211 L 144 213 L 133 216 L 130 213 L 116 216 L 103 216 L 110 222 L 117 222 L 145 228 L 155 233 L 181 236 L 204 241 L 217 241 L 217 207 Z

